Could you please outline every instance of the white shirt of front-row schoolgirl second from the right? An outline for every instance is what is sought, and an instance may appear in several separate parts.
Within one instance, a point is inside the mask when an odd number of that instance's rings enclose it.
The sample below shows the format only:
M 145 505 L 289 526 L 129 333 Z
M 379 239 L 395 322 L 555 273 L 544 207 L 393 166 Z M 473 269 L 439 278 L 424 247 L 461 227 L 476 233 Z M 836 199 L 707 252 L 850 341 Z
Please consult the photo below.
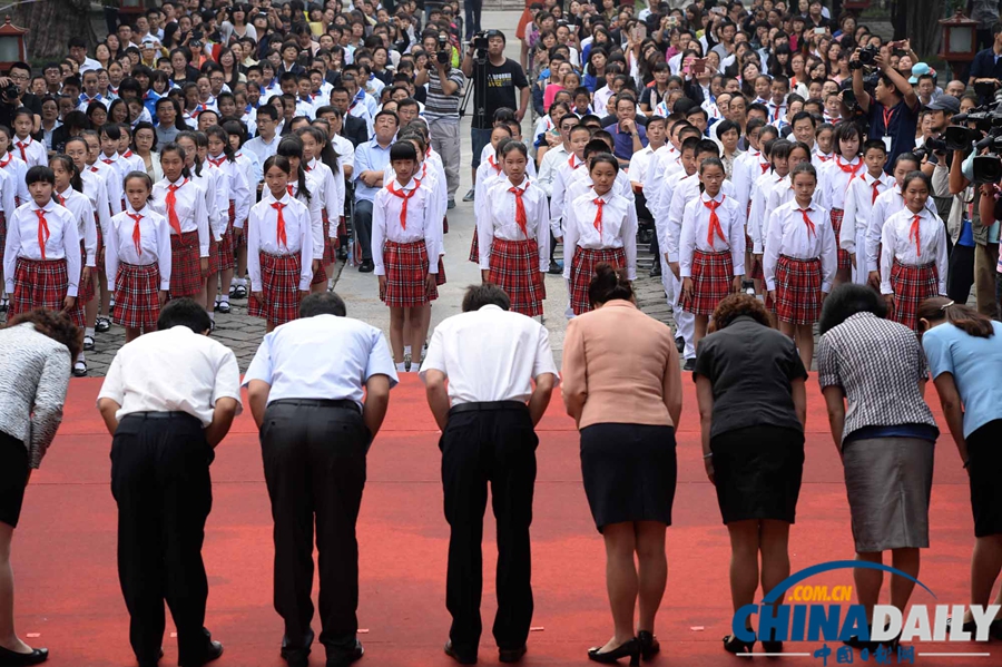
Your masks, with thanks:
M 784 204 L 773 214 L 762 261 L 767 290 L 776 288 L 776 266 L 779 264 L 779 256 L 786 255 L 794 259 L 821 258 L 822 292 L 832 291 L 832 282 L 838 269 L 835 230 L 828 212 L 822 206 L 812 204 L 807 217 L 814 223 L 814 232 L 804 222 L 804 214 L 796 199 Z

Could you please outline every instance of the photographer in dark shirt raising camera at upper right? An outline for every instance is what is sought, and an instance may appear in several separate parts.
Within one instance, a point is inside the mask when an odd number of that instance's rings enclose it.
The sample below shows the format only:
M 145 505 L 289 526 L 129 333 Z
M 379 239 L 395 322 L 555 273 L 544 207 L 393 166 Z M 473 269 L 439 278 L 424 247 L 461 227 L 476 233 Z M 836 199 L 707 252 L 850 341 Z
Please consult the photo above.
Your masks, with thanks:
M 865 66 L 875 66 L 878 70 L 872 97 L 864 85 Z M 849 68 L 853 71 L 856 104 L 870 124 L 867 135 L 871 139 L 884 141 L 887 165 L 893 165 L 898 155 L 915 147 L 918 96 L 908 80 L 891 67 L 888 55 L 877 52 L 874 47 L 856 49 L 849 57 Z

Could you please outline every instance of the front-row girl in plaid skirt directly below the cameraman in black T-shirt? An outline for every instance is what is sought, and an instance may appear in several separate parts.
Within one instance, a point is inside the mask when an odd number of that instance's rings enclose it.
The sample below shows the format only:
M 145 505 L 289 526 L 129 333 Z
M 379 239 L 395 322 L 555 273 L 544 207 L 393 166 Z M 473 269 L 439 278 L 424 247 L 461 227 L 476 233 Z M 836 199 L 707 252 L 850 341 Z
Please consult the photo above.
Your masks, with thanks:
M 529 151 L 521 141 L 502 149 L 508 178 L 488 193 L 488 215 L 478 220 L 480 269 L 485 283 L 500 286 L 511 310 L 530 317 L 543 314 L 550 268 L 550 209 L 547 195 L 525 177 Z

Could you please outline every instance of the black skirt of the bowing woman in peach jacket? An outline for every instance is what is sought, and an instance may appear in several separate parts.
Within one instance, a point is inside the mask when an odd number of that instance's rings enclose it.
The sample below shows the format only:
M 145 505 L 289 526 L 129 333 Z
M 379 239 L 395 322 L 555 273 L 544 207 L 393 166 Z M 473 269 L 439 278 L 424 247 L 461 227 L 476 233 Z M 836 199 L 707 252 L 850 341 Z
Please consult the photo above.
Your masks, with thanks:
M 581 471 L 599 532 L 603 526 L 632 521 L 671 526 L 678 477 L 671 426 L 586 426 L 581 429 Z

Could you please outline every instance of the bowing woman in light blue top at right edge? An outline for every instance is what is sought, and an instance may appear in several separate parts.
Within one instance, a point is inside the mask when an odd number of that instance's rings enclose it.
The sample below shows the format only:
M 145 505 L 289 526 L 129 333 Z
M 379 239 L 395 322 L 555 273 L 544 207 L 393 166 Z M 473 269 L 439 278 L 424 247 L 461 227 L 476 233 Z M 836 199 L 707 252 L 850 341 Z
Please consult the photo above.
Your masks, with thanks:
M 1002 570 L 1002 324 L 942 296 L 922 302 L 918 323 L 946 424 L 971 478 L 971 605 L 984 607 Z M 1002 591 L 995 604 L 1002 605 Z M 974 629 L 970 611 L 964 629 Z M 1002 618 L 991 635 L 1002 639 Z

